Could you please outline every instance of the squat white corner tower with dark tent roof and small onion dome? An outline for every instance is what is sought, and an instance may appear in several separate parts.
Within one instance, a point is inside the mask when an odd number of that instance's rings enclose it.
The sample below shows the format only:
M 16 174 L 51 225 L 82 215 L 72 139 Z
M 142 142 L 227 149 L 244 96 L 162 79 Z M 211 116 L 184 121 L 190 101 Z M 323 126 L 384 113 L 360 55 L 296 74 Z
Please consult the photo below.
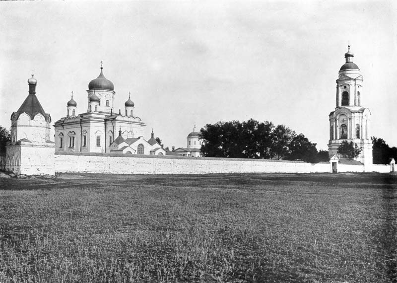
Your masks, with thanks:
M 6 146 L 5 170 L 15 174 L 54 175 L 54 142 L 50 141 L 51 116 L 36 96 L 37 80 L 28 79 L 29 95 L 11 114 L 11 141 Z

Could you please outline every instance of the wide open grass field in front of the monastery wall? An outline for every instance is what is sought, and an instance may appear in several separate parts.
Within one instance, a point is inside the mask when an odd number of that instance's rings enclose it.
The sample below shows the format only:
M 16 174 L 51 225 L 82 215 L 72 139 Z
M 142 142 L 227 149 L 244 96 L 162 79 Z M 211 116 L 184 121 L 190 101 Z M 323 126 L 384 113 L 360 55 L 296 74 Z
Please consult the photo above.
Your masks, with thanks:
M 397 175 L 0 179 L 0 282 L 397 282 Z

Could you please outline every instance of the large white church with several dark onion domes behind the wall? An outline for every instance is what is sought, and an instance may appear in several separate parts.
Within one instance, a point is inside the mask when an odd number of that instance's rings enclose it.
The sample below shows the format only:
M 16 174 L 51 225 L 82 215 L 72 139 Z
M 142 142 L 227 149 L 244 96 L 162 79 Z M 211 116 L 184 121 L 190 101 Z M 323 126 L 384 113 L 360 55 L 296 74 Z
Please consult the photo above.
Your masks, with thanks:
M 72 95 L 66 105 L 66 117 L 55 122 L 56 152 L 115 151 L 132 154 L 161 152 L 161 150 L 154 151 L 160 147 L 157 142 L 151 144 L 143 139 L 143 129 L 146 124 L 134 115 L 134 103 L 130 96 L 124 104 L 125 109 L 113 113 L 115 94 L 113 82 L 104 76 L 101 67 L 99 76 L 88 84 L 86 112 L 76 114 L 77 103 Z M 124 143 L 128 143 L 131 150 L 120 151 L 119 146 L 113 144 L 120 131 Z

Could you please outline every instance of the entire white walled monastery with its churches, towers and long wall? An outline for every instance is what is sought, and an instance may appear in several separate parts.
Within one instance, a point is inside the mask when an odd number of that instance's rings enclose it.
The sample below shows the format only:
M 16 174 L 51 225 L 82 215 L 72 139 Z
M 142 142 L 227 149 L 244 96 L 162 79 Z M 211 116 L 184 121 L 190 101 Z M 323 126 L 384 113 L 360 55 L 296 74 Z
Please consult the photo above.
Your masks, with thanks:
M 203 174 L 233 172 L 390 172 L 389 165 L 372 164 L 371 112 L 362 104 L 363 76 L 353 63 L 350 46 L 336 79 L 335 110 L 329 115 L 330 162 L 200 157 L 199 133 L 187 136 L 187 146 L 174 152 L 163 149 L 154 139 L 143 138 L 146 124 L 135 115 L 129 96 L 124 110 L 113 112 L 115 87 L 101 66 L 97 78 L 88 83 L 87 104 L 77 114 L 77 103 L 66 104 L 66 116 L 54 123 L 36 96 L 37 80 L 28 79 L 29 94 L 11 115 L 11 141 L 6 146 L 3 169 L 16 174 L 54 175 L 56 172 L 116 174 Z M 353 141 L 362 151 L 355 160 L 340 158 L 342 141 Z

